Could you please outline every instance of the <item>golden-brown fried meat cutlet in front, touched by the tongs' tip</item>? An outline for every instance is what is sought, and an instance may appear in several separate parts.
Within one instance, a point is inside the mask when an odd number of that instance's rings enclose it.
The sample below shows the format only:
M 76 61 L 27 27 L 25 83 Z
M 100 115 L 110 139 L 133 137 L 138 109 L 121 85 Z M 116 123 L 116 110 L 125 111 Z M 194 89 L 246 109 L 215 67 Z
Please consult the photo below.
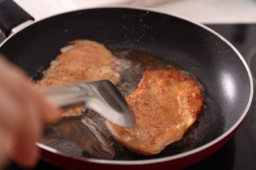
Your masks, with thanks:
M 116 141 L 145 156 L 179 141 L 203 105 L 197 82 L 173 69 L 146 70 L 137 90 L 126 100 L 135 112 L 135 126 L 106 125 Z

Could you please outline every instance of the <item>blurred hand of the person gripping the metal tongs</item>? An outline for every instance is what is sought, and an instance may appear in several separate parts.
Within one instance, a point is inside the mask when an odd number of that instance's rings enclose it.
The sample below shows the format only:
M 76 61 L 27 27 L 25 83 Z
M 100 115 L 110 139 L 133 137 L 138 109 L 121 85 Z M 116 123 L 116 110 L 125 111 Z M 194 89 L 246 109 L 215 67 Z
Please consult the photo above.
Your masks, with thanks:
M 39 157 L 35 145 L 43 122 L 54 122 L 61 112 L 47 101 L 30 78 L 0 56 L 0 167 L 11 158 L 32 167 Z

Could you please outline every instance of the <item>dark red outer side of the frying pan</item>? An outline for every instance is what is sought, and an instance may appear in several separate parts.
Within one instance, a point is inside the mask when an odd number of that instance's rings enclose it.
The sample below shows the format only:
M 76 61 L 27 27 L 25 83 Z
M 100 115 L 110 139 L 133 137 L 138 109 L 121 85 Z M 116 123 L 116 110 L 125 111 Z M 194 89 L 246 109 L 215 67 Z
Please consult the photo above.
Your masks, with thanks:
M 64 154 L 54 154 L 53 152 L 50 152 L 49 150 L 45 149 L 41 149 L 41 158 L 42 160 L 45 160 L 55 165 L 56 167 L 60 167 L 61 169 L 185 169 L 187 167 L 190 167 L 191 165 L 194 165 L 195 163 L 198 163 L 199 161 L 202 161 L 208 156 L 211 156 L 211 154 L 219 150 L 219 148 L 221 148 L 230 140 L 230 138 L 234 135 L 238 127 L 236 127 L 234 131 L 226 135 L 226 137 L 224 137 L 224 139 L 222 139 L 218 143 L 215 143 L 212 146 L 209 146 L 194 154 L 188 154 L 188 156 L 182 156 L 181 158 L 177 159 L 159 160 L 154 163 L 144 163 L 143 161 L 138 161 L 137 163 L 132 164 L 125 162 L 94 163 L 87 160 L 73 159 Z

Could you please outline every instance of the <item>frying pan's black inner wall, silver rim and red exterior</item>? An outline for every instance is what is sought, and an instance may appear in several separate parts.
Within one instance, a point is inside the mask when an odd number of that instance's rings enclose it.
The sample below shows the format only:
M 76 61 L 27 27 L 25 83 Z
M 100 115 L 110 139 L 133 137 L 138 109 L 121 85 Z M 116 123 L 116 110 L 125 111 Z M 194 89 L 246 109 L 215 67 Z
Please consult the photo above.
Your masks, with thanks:
M 2 31 L 7 36 L 10 33 L 6 27 Z M 0 52 L 32 76 L 74 39 L 100 42 L 110 50 L 133 49 L 179 65 L 202 82 L 205 107 L 197 125 L 192 126 L 196 138 L 188 141 L 186 149 L 181 146 L 179 152 L 163 150 L 135 160 L 100 160 L 72 157 L 39 145 L 41 158 L 59 167 L 189 167 L 213 154 L 234 135 L 251 104 L 251 73 L 230 42 L 205 25 L 151 9 L 102 7 L 58 14 L 7 37 Z

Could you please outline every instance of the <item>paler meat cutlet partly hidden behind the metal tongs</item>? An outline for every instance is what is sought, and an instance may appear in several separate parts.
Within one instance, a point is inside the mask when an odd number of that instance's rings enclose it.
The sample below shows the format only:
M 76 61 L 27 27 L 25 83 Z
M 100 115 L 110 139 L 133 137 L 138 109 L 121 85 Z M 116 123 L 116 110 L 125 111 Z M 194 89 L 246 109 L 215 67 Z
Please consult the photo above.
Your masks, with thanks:
M 75 40 L 62 48 L 62 53 L 51 62 L 43 79 L 36 87 L 58 86 L 79 82 L 108 79 L 114 84 L 119 80 L 115 58 L 102 44 L 89 40 Z M 64 116 L 79 114 L 81 107 L 65 110 Z

